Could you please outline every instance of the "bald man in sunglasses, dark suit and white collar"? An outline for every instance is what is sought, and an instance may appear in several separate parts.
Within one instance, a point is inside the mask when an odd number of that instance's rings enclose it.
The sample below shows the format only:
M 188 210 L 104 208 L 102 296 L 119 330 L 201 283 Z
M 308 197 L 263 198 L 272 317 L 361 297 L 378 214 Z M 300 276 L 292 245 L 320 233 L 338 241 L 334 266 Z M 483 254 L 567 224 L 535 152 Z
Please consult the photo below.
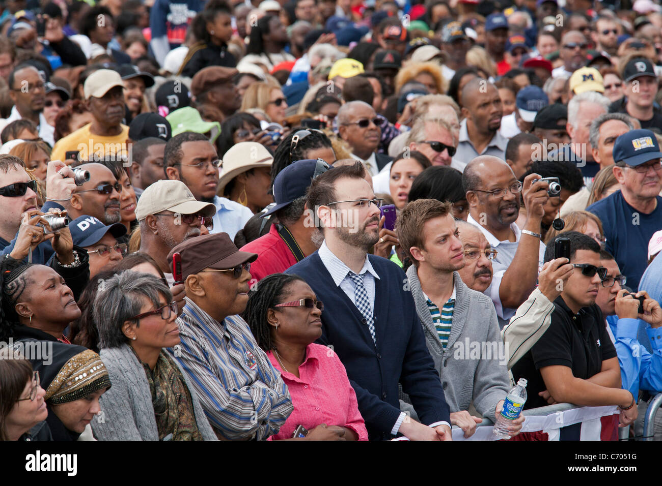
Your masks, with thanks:
M 338 134 L 350 145 L 352 158 L 365 164 L 375 177 L 393 159 L 377 153 L 381 140 L 382 118 L 372 106 L 363 101 L 350 101 L 338 110 Z

